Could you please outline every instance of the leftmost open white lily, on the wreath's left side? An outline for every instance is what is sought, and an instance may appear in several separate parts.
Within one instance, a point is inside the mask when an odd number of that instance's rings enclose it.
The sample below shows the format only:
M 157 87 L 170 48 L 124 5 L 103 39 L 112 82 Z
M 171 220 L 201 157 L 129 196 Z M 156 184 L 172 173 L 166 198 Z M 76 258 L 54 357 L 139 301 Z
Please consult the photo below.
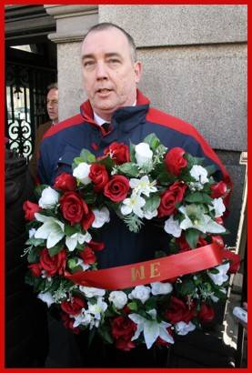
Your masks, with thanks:
M 44 223 L 35 231 L 35 238 L 46 239 L 46 247 L 54 247 L 63 237 L 64 233 L 64 223 L 55 219 L 55 217 L 45 217 L 39 213 L 35 213 L 35 219 Z

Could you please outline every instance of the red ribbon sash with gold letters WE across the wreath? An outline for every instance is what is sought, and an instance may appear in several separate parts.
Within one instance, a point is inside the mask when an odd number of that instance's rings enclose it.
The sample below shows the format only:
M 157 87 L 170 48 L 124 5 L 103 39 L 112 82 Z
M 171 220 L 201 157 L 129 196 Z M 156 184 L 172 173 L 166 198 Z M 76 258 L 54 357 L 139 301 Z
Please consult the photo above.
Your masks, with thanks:
M 65 273 L 65 277 L 78 285 L 116 290 L 202 271 L 221 264 L 221 248 L 216 243 L 194 250 L 160 257 L 121 267 L 96 271 Z

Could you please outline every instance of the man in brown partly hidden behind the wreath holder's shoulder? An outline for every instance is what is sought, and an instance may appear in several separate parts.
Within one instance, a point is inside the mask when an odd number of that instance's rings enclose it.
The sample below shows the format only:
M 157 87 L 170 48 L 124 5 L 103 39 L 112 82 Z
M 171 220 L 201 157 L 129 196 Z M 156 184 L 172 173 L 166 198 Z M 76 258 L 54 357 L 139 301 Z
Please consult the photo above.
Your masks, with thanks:
M 29 169 L 34 178 L 37 176 L 37 160 L 39 146 L 42 141 L 45 132 L 51 127 L 58 123 L 58 88 L 57 83 L 52 83 L 47 86 L 46 95 L 46 110 L 50 120 L 40 126 L 38 126 L 35 132 L 35 148 L 34 154 L 29 163 Z

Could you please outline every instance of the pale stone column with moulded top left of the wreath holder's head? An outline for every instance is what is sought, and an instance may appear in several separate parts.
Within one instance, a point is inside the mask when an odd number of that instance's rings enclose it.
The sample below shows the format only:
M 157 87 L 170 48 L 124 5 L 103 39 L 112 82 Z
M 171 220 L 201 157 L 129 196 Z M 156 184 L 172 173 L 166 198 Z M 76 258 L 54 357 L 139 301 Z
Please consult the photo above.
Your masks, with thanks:
M 87 30 L 98 23 L 97 5 L 44 5 L 56 20 L 56 32 L 48 35 L 57 45 L 57 80 L 60 121 L 79 112 L 86 100 L 80 68 L 80 44 Z

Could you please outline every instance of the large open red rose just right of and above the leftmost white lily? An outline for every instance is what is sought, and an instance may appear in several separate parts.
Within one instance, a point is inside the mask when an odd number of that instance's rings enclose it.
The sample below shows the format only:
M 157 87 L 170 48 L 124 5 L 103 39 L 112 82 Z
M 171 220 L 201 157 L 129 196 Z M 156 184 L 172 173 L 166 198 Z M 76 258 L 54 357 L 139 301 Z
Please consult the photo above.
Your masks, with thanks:
M 63 217 L 70 221 L 71 226 L 88 214 L 86 202 L 76 192 L 66 192 L 60 197 L 59 203 Z

